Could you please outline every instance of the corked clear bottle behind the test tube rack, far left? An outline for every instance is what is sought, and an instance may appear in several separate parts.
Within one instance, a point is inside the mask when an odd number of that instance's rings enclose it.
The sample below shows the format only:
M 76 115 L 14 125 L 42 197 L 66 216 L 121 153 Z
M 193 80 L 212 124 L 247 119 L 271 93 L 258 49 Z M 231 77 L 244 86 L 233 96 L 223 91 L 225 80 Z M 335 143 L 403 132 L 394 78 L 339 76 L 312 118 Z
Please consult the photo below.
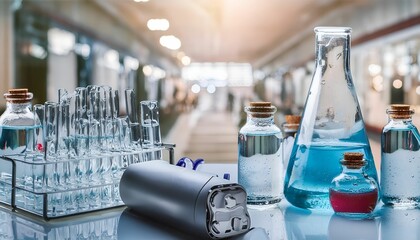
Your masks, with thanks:
M 31 111 L 32 93 L 28 89 L 10 89 L 4 94 L 6 111 L 0 116 L 0 155 L 10 156 L 33 151 L 35 123 Z

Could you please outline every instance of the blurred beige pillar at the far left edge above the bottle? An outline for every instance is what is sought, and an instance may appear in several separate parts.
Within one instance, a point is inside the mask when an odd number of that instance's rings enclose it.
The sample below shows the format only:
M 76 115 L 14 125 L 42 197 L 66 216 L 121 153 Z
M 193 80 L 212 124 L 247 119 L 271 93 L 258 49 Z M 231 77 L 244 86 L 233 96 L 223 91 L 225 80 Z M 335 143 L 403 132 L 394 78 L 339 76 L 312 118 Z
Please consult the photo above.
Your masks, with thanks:
M 13 86 L 13 0 L 0 1 L 0 95 Z M 6 105 L 0 97 L 0 108 Z

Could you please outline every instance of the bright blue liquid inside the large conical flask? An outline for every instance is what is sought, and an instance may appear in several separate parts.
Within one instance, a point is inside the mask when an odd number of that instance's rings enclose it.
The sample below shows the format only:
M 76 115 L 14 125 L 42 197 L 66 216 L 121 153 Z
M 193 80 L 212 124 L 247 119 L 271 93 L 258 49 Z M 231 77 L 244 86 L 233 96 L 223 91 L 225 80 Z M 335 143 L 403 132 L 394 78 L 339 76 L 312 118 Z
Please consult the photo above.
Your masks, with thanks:
M 287 200 L 301 208 L 331 208 L 328 189 L 332 179 L 341 173 L 340 159 L 345 152 L 363 153 L 368 162 L 366 173 L 377 180 L 369 144 L 357 141 L 364 134 L 361 130 L 342 141 L 296 145 L 285 179 Z

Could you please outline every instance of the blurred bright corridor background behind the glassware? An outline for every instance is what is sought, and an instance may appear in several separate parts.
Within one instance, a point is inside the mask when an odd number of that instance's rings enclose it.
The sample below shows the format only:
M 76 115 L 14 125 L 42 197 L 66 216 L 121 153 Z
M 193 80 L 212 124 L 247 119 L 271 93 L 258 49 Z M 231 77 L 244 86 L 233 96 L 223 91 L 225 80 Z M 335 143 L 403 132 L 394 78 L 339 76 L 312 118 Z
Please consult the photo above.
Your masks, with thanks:
M 249 101 L 271 101 L 279 126 L 302 113 L 315 26 L 353 28 L 352 75 L 378 161 L 389 104 L 410 104 L 420 124 L 419 0 L 0 0 L 0 92 L 27 87 L 35 104 L 59 88 L 133 88 L 159 101 L 177 158 L 236 162 Z

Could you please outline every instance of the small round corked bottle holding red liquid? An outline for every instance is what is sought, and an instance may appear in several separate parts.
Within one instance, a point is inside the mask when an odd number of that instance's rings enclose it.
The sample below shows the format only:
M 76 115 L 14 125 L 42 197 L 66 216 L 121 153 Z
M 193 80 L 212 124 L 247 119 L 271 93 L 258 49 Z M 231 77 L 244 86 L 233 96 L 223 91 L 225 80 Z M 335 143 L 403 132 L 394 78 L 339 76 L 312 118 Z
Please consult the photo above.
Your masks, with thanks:
M 369 217 L 378 202 L 378 185 L 363 167 L 363 153 L 346 152 L 340 161 L 343 171 L 330 186 L 330 203 L 337 215 Z

